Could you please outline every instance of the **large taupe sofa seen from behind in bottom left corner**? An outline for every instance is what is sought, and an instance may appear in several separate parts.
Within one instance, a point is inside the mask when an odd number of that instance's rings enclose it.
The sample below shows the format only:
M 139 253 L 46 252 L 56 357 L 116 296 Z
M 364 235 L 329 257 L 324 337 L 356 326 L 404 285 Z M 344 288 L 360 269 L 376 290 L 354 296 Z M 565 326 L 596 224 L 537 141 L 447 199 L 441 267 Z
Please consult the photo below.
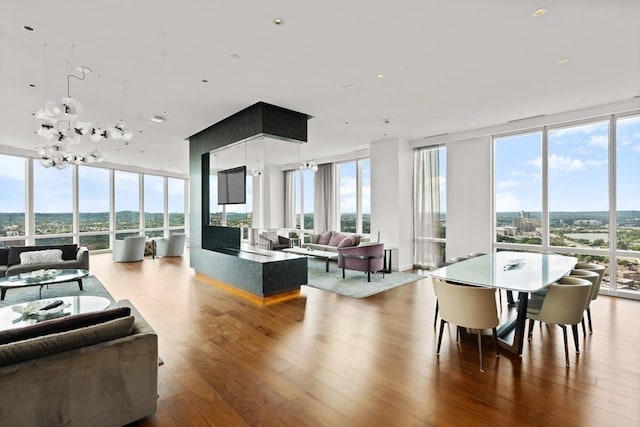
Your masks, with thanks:
M 63 332 L 8 343 L 2 332 L 0 425 L 122 426 L 156 412 L 158 337 L 128 300 L 117 307 L 115 319 L 70 330 L 109 310 L 35 324 Z

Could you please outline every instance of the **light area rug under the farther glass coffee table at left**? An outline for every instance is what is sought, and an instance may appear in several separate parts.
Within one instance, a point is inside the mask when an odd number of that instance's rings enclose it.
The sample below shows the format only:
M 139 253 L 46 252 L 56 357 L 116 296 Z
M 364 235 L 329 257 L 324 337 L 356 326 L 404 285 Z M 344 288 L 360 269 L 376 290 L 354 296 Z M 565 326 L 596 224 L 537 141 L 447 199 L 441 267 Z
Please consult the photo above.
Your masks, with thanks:
M 96 276 L 87 276 L 82 279 L 82 287 L 84 290 L 81 291 L 78 287 L 78 282 L 56 283 L 54 285 L 49 285 L 49 287 L 45 286 L 42 288 L 42 299 L 92 295 L 105 297 L 109 301 L 114 302 L 111 294 L 109 294 Z M 9 305 L 38 300 L 40 299 L 39 290 L 39 286 L 9 289 L 7 290 L 7 295 L 4 297 L 4 300 L 0 301 L 0 307 L 7 307 Z

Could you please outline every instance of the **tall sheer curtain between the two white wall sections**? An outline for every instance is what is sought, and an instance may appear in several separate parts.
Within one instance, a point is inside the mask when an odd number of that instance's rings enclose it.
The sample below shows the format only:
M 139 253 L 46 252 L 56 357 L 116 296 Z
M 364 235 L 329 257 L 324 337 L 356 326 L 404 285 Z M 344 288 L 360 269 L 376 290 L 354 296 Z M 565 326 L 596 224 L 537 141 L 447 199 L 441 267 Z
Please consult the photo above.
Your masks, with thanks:
M 443 261 L 440 239 L 440 161 L 439 147 L 420 148 L 414 152 L 414 254 L 416 267 L 436 266 Z

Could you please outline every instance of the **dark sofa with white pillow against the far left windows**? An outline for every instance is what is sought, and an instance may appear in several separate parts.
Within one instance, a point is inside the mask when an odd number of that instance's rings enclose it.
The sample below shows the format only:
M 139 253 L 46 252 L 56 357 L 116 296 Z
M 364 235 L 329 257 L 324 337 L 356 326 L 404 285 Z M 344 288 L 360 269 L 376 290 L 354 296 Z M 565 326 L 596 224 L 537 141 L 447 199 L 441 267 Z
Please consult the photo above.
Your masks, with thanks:
M 24 252 L 39 252 L 58 249 L 61 259 L 56 262 L 22 263 L 20 254 Z M 24 258 L 24 257 L 23 257 Z M 79 268 L 89 270 L 89 250 L 78 245 L 49 245 L 49 246 L 11 246 L 0 248 L 0 277 L 13 276 L 40 269 Z

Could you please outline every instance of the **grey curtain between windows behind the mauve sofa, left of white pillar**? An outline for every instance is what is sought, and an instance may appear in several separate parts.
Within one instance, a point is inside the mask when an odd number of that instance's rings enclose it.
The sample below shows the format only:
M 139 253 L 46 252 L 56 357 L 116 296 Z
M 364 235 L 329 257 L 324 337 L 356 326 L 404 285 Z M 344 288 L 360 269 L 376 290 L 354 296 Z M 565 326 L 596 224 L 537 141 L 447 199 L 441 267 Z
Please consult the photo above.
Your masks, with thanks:
M 338 191 L 333 163 L 318 165 L 313 195 L 313 228 L 316 233 L 337 230 Z

